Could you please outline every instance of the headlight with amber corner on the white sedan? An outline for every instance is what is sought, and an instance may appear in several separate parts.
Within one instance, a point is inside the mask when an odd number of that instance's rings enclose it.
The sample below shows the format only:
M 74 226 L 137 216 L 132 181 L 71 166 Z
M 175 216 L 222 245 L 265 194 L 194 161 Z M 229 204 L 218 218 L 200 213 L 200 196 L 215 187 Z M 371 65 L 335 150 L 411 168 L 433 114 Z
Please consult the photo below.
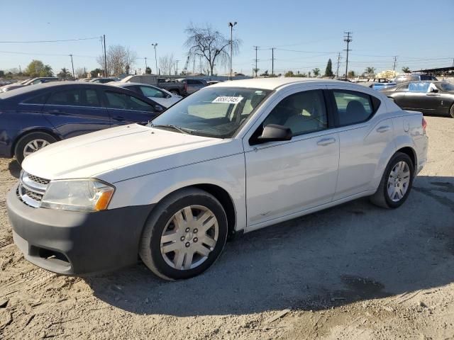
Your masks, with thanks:
M 114 191 L 114 186 L 92 179 L 50 181 L 40 206 L 73 211 L 105 210 Z

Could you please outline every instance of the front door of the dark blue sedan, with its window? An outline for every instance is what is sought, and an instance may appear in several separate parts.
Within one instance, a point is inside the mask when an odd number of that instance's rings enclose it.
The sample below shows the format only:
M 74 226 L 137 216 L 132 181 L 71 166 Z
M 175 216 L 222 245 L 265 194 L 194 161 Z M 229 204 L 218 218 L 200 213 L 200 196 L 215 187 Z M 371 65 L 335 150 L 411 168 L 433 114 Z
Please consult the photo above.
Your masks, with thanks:
M 146 124 L 157 115 L 157 104 L 153 105 L 131 94 L 104 90 L 104 101 L 113 126 L 131 123 Z

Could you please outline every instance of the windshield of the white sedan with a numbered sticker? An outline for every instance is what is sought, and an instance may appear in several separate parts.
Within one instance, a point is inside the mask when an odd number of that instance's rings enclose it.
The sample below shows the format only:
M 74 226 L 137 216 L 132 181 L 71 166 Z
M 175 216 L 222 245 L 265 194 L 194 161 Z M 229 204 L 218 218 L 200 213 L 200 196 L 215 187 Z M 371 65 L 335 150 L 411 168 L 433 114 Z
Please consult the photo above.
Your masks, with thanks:
M 229 138 L 269 93 L 263 89 L 205 88 L 175 104 L 148 126 Z

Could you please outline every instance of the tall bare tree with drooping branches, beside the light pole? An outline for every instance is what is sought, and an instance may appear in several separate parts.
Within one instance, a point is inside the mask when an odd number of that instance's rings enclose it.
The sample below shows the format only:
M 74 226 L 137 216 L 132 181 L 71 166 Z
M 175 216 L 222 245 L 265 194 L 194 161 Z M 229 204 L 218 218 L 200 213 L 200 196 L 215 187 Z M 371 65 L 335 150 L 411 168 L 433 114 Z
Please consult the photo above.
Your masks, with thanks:
M 216 60 L 220 65 L 228 64 L 230 55 L 228 50 L 230 40 L 224 37 L 218 30 L 215 30 L 208 23 L 205 27 L 196 27 L 190 24 L 186 29 L 188 35 L 184 46 L 189 48 L 189 56 L 195 57 L 199 55 L 206 59 L 209 64 L 209 71 L 213 75 L 213 69 L 216 65 Z M 240 40 L 233 40 L 233 52 L 238 52 Z

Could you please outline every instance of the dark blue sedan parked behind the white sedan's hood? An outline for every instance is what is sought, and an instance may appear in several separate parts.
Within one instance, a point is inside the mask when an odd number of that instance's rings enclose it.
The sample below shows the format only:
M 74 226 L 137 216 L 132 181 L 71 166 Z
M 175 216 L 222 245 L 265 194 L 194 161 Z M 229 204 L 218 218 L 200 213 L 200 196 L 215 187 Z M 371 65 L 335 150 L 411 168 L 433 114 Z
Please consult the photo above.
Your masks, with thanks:
M 126 89 L 52 82 L 0 94 L 0 157 L 19 163 L 57 140 L 129 123 L 148 123 L 162 106 Z

